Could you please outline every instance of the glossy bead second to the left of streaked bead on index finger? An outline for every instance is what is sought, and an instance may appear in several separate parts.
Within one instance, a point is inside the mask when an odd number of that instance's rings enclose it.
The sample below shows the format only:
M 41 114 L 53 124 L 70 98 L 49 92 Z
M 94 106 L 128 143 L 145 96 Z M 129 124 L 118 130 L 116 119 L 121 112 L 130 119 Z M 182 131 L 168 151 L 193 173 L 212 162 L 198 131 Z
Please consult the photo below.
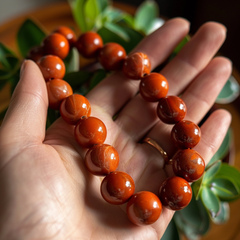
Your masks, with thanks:
M 103 41 L 99 34 L 86 32 L 79 36 L 75 46 L 83 57 L 93 58 L 97 57 L 99 50 L 103 47 Z

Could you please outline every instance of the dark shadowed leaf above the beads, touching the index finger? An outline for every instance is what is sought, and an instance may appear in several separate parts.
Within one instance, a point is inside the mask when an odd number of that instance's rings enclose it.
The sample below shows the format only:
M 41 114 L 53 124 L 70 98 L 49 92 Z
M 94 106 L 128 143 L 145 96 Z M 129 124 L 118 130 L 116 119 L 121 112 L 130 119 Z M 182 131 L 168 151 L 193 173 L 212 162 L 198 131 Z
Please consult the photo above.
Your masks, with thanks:
M 125 41 L 123 38 L 121 38 L 118 34 L 110 31 L 106 27 L 102 27 L 98 30 L 98 34 L 101 35 L 103 42 L 116 42 L 119 43 L 124 47 L 127 53 L 129 53 L 142 39 L 143 35 L 139 32 L 127 27 L 127 26 L 121 26 L 122 29 L 124 29 L 125 33 L 129 36 L 129 41 Z

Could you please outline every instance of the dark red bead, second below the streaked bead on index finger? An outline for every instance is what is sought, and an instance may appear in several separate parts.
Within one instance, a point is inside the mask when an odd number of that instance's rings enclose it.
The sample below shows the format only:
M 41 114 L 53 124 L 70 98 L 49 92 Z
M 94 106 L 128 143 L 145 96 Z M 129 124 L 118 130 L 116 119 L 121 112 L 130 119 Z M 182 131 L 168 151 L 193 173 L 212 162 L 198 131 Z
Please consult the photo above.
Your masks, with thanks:
M 157 114 L 162 122 L 175 124 L 185 118 L 187 107 L 181 98 L 168 96 L 159 100 Z

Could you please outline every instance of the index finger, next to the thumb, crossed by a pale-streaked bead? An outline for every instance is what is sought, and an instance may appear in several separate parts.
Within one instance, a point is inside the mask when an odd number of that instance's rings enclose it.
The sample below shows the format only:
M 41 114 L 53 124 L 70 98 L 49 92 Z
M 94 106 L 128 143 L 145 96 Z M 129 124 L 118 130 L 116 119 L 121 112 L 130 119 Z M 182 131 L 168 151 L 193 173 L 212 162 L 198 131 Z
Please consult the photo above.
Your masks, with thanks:
M 135 49 L 146 53 L 152 68 L 162 63 L 176 45 L 186 36 L 189 23 L 181 18 L 166 22 L 160 29 L 146 37 Z M 129 81 L 122 72 L 116 72 L 98 84 L 88 95 L 92 105 L 97 105 L 113 116 L 138 91 L 138 81 Z

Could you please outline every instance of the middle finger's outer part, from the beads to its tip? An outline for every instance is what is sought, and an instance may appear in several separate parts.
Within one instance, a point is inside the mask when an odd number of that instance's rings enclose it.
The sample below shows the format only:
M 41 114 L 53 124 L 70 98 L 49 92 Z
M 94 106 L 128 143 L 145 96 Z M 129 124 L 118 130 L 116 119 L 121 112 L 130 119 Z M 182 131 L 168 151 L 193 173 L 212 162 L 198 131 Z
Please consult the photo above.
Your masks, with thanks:
M 161 71 L 169 83 L 169 94 L 178 95 L 209 63 L 226 38 L 226 28 L 208 22 L 200 27 L 180 53 Z

